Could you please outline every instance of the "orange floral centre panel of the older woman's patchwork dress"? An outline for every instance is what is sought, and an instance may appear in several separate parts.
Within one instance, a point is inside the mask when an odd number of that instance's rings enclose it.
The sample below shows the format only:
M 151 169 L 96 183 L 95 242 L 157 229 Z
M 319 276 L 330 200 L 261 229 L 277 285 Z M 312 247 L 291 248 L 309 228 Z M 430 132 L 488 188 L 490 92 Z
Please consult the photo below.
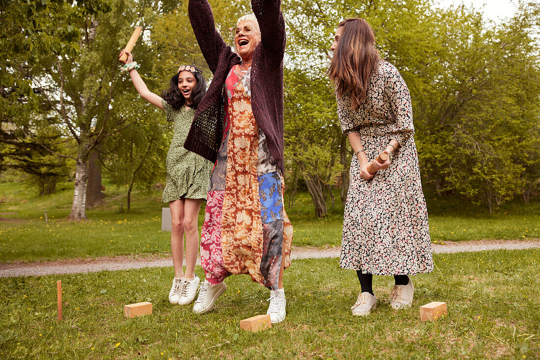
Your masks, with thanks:
M 249 274 L 253 281 L 262 284 L 263 231 L 257 177 L 259 130 L 251 99 L 241 82 L 234 89 L 228 113 L 231 127 L 221 218 L 223 263 L 232 274 Z

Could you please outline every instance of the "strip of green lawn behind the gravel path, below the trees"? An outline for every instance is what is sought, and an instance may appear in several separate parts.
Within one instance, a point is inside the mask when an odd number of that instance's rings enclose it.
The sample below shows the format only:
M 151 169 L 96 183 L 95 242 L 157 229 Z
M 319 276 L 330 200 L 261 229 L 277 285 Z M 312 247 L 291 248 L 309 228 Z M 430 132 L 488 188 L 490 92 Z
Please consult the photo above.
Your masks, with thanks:
M 104 205 L 87 210 L 89 221 L 57 221 L 71 209 L 72 184 L 59 185 L 56 194 L 37 196 L 32 189 L 14 182 L 0 182 L 0 262 L 41 261 L 134 254 L 167 255 L 170 233 L 160 231 L 160 191 L 135 192 L 130 212 L 125 189 L 106 184 Z M 428 194 L 429 195 L 429 194 Z M 339 203 L 336 200 L 336 203 Z M 49 222 L 45 223 L 44 212 Z M 433 241 L 540 238 L 540 202 L 525 206 L 508 203 L 493 215 L 460 200 L 428 196 Z M 343 208 L 330 208 L 322 219 L 314 216 L 307 193 L 295 196 L 287 209 L 294 227 L 295 246 L 332 247 L 341 243 Z M 199 227 L 204 220 L 204 206 Z

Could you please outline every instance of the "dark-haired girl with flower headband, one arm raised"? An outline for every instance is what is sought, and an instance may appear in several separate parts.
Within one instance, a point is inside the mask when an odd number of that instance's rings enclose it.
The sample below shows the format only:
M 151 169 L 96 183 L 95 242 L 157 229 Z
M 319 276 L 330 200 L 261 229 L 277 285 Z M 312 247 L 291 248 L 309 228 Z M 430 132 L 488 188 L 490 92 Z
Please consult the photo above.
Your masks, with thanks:
M 171 78 L 171 85 L 163 92 L 163 98 L 159 97 L 148 90 L 137 73 L 139 65 L 133 62 L 131 53 L 122 50 L 120 56 L 124 52 L 127 54 L 127 60 L 122 70 L 129 72 L 137 92 L 150 104 L 165 110 L 167 121 L 174 121 L 174 136 L 166 160 L 167 183 L 162 200 L 169 203 L 172 216 L 171 253 L 174 279 L 169 291 L 169 301 L 173 304 L 186 305 L 193 301 L 200 282 L 194 273 L 199 250 L 197 218 L 201 203 L 206 200 L 213 165 L 200 155 L 187 151 L 184 148 L 184 141 L 190 130 L 195 109 L 206 92 L 206 83 L 197 67 L 183 65 Z

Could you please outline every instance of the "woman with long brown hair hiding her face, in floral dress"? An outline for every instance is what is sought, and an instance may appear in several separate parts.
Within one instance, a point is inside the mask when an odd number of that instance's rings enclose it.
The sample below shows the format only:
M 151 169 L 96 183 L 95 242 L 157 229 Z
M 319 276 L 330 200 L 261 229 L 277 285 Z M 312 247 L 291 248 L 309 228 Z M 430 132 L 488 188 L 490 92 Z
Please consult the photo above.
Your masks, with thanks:
M 342 21 L 330 50 L 338 117 L 355 153 L 340 259 L 340 267 L 356 270 L 360 281 L 352 312 L 368 315 L 376 308 L 373 275 L 393 275 L 390 305 L 407 308 L 414 294 L 409 275 L 433 271 L 409 90 L 394 65 L 380 58 L 365 20 Z M 381 152 L 388 160 L 377 161 Z M 375 174 L 368 172 L 370 164 Z

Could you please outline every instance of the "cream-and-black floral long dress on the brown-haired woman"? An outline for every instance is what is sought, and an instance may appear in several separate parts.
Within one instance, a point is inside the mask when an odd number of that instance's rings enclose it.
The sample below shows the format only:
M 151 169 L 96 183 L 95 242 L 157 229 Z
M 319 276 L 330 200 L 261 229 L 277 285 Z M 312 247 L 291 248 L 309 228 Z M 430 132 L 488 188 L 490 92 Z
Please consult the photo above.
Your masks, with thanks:
M 390 140 L 400 144 L 390 166 L 371 180 L 360 177 L 356 157 L 351 161 L 340 267 L 374 275 L 433 271 L 410 94 L 399 71 L 381 60 L 359 110 L 347 93 L 338 96 L 338 117 L 344 133 L 360 134 L 369 160 Z

